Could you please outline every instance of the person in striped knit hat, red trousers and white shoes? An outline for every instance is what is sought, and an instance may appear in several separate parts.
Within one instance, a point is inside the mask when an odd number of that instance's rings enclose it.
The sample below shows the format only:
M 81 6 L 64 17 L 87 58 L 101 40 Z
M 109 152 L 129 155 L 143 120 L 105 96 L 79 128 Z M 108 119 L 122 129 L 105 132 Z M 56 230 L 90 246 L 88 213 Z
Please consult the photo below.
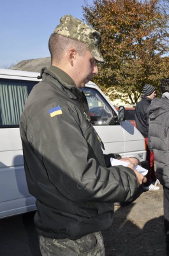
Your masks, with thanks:
M 145 84 L 143 86 L 143 98 L 136 104 L 135 108 L 135 120 L 136 128 L 140 131 L 145 138 L 145 143 L 147 145 L 147 158 L 149 162 L 149 172 L 147 173 L 147 182 L 144 184 L 143 189 L 157 191 L 159 189 L 159 180 L 156 178 L 156 173 L 154 170 L 154 153 L 149 150 L 148 146 L 148 131 L 149 131 L 149 115 L 148 108 L 151 101 L 156 97 L 156 90 L 151 84 Z

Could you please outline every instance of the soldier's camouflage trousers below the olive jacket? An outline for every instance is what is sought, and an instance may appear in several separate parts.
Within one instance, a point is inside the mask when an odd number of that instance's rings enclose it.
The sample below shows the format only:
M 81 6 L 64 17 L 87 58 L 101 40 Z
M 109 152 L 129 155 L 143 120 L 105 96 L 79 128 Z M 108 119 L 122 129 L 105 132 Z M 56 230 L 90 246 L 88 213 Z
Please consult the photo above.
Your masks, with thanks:
M 42 256 L 105 256 L 101 232 L 92 233 L 77 240 L 40 236 L 39 241 Z

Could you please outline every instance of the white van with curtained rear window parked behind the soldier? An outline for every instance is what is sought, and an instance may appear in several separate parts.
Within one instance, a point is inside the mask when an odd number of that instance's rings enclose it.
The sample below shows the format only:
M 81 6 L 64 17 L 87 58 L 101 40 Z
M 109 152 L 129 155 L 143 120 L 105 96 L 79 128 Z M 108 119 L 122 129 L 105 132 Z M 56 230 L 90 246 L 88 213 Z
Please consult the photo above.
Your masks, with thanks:
M 39 75 L 0 68 L 0 218 L 36 209 L 35 198 L 27 189 L 19 121 Z M 104 154 L 134 156 L 143 163 L 146 151 L 142 134 L 128 121 L 118 122 L 117 110 L 96 84 L 89 82 L 83 90 L 91 122 L 105 145 Z

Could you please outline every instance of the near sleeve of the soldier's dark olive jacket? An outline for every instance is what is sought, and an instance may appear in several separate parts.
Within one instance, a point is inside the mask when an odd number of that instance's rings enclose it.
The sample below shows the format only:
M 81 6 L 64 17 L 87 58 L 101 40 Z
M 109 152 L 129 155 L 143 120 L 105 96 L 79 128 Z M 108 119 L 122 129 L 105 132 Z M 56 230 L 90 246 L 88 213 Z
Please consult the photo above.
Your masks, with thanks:
M 51 117 L 48 109 L 54 108 L 54 104 L 50 105 L 36 116 L 28 131 L 48 181 L 75 202 L 131 199 L 137 190 L 133 170 L 124 166 L 105 167 L 98 139 L 80 110 L 62 103 L 62 113 Z M 41 186 L 45 186 L 43 179 L 43 175 L 38 177 Z

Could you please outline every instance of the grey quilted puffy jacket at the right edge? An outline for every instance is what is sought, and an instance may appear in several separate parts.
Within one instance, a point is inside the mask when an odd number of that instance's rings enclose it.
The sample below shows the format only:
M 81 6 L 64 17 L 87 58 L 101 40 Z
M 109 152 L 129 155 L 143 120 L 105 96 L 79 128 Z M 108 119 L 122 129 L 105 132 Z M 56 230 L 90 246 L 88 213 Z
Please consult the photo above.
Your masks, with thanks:
M 154 151 L 160 183 L 169 188 L 169 93 L 149 107 L 149 148 Z

